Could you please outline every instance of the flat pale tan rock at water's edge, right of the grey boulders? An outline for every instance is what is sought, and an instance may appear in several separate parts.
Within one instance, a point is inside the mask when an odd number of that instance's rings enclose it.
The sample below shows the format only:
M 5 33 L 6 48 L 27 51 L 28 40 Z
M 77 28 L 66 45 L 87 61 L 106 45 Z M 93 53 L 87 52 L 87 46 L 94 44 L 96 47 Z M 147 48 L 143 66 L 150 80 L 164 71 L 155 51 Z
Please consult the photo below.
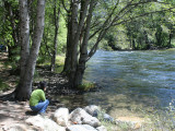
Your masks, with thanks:
M 144 121 L 141 118 L 137 117 L 118 117 L 116 119 L 116 124 L 126 123 L 130 126 L 131 129 L 139 129 L 141 128 Z

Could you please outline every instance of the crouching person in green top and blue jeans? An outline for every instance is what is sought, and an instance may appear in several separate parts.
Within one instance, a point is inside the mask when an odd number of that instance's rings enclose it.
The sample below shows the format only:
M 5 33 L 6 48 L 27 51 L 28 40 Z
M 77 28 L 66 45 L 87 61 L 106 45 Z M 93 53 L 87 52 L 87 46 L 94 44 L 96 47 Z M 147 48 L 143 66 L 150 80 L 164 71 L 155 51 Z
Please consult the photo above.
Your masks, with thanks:
M 46 99 L 46 82 L 39 82 L 38 88 L 34 90 L 30 97 L 30 107 L 33 111 L 36 111 L 39 115 L 44 115 L 49 100 Z

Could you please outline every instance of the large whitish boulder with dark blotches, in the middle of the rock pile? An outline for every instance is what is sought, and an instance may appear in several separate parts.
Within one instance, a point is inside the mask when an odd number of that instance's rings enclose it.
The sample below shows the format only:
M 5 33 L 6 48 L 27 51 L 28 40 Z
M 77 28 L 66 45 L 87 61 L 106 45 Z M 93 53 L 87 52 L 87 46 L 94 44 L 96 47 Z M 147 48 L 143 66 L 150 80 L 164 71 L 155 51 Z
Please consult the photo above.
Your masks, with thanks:
M 70 121 L 77 124 L 90 124 L 94 128 L 100 127 L 101 122 L 97 118 L 89 115 L 84 109 L 77 108 L 73 110 L 70 116 Z

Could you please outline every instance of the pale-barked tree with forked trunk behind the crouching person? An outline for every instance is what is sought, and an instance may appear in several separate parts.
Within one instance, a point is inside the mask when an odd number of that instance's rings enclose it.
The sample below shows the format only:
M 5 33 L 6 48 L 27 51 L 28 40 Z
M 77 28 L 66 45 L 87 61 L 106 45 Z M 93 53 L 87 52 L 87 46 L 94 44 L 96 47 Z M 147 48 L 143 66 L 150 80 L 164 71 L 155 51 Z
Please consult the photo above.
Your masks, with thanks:
M 14 91 L 18 99 L 30 98 L 32 92 L 33 76 L 36 66 L 36 59 L 44 31 L 45 0 L 37 0 L 36 25 L 34 29 L 34 39 L 30 49 L 30 17 L 27 0 L 20 0 L 21 16 L 21 74 L 20 83 Z

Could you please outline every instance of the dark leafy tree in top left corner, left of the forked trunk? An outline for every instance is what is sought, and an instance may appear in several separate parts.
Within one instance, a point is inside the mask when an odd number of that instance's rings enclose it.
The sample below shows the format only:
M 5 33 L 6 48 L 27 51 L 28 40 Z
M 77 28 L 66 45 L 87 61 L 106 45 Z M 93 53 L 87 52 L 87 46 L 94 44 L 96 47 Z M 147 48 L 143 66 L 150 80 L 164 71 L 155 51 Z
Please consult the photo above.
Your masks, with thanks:
M 13 59 L 20 53 L 18 49 L 20 39 L 18 1 L 2 0 L 0 10 L 0 43 L 8 46 L 9 59 L 14 61 Z

